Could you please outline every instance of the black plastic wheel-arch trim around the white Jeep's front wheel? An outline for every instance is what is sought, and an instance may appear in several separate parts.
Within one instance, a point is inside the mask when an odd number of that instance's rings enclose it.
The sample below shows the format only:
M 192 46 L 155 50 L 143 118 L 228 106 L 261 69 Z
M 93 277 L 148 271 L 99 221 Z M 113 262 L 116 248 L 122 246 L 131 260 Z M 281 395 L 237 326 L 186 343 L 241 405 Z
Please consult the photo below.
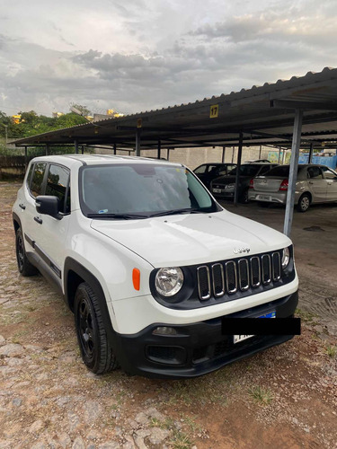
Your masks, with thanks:
M 69 271 L 73 271 L 75 273 L 75 277 L 69 277 Z M 64 285 L 65 285 L 65 301 L 69 309 L 74 312 L 74 298 L 75 291 L 77 286 L 82 282 L 86 282 L 93 289 L 94 294 L 97 296 L 98 303 L 100 304 L 100 309 L 102 313 L 102 321 L 104 324 L 104 329 L 107 333 L 107 338 L 111 343 L 111 347 L 113 348 L 114 353 L 123 367 L 126 365 L 125 352 L 122 350 L 120 345 L 120 339 L 116 334 L 115 330 L 112 327 L 110 313 L 108 310 L 108 306 L 106 303 L 105 295 L 99 280 L 93 276 L 93 274 L 85 269 L 83 265 L 81 265 L 77 260 L 67 257 L 65 260 L 64 267 Z

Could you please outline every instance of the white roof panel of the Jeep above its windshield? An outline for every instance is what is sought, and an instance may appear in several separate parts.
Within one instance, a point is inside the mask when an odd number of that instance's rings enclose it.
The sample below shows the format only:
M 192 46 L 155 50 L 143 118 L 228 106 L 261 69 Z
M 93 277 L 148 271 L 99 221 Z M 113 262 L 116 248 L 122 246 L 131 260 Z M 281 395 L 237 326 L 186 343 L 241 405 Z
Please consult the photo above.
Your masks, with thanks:
M 183 167 L 182 163 L 170 163 L 163 159 L 150 159 L 139 156 L 123 156 L 115 154 L 60 154 L 47 155 L 34 158 L 34 162 L 60 163 L 71 166 L 75 162 L 81 165 L 102 165 L 102 164 L 119 164 L 119 163 L 149 163 L 155 165 L 172 165 L 175 167 Z

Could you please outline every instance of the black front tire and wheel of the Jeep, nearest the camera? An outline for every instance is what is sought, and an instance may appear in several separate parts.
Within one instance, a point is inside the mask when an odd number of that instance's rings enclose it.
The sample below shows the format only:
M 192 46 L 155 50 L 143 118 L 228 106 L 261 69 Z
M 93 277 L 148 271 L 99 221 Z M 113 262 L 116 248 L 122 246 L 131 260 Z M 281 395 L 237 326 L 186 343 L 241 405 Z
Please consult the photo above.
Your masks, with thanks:
M 84 364 L 94 374 L 104 374 L 118 367 L 102 321 L 97 296 L 84 282 L 75 293 L 75 328 Z

